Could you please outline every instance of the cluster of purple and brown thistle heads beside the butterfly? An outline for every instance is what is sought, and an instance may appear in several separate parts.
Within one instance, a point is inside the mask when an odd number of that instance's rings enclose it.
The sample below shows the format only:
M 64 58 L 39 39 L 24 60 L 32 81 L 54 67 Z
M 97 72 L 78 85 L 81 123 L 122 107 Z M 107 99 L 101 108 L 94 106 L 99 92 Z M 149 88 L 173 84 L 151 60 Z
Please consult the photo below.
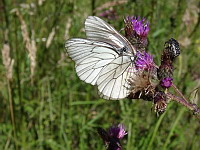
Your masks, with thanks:
M 126 17 L 125 36 L 136 48 L 135 75 L 127 81 L 130 85 L 128 98 L 150 100 L 154 103 L 154 110 L 163 113 L 166 110 L 168 98 L 166 89 L 172 86 L 173 63 L 180 54 L 179 43 L 171 38 L 165 42 L 161 65 L 157 67 L 153 56 L 145 50 L 147 47 L 147 36 L 149 33 L 149 23 L 140 17 Z

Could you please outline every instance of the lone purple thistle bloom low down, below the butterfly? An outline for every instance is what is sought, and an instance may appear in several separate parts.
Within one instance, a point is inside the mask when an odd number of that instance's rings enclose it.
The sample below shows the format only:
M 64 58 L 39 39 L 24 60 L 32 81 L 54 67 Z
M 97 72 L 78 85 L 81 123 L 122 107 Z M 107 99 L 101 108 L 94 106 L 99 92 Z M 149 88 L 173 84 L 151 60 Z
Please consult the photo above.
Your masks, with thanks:
M 117 127 L 111 127 L 108 131 L 110 137 L 122 139 L 127 133 L 124 125 L 119 124 Z

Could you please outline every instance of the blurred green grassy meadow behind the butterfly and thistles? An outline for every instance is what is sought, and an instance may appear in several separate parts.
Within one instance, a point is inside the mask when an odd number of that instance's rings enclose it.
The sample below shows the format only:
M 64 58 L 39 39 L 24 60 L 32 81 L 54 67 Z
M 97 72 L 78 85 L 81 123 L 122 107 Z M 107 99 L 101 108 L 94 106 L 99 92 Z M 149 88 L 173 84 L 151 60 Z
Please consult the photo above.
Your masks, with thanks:
M 0 149 L 102 150 L 96 127 L 123 123 L 124 149 L 198 150 L 200 121 L 191 112 L 172 102 L 158 117 L 152 102 L 101 99 L 78 79 L 64 43 L 85 38 L 89 15 L 109 12 L 102 18 L 117 30 L 124 16 L 145 17 L 158 65 L 165 41 L 180 43 L 174 83 L 200 105 L 199 8 L 198 0 L 1 0 Z

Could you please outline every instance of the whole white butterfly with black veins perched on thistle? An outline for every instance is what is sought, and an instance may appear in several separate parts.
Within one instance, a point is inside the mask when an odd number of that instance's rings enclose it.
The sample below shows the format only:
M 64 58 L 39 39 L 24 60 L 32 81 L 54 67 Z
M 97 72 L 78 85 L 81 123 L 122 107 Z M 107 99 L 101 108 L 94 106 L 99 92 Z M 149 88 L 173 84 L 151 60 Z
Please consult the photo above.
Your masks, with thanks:
M 136 50 L 131 43 L 102 19 L 89 16 L 85 21 L 87 39 L 72 38 L 65 44 L 76 63 L 79 78 L 97 85 L 105 99 L 123 99 L 130 93 L 128 79 L 136 71 Z

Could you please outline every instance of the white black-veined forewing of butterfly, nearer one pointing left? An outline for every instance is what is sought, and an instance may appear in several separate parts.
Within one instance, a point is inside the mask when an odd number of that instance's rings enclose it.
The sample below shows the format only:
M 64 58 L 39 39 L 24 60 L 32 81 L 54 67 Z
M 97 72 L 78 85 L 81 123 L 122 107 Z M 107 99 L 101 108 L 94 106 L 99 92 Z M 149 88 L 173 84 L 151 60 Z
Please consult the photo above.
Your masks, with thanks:
M 96 85 L 104 66 L 118 57 L 114 47 L 103 42 L 74 38 L 68 40 L 65 47 L 76 63 L 79 78 L 92 85 Z

